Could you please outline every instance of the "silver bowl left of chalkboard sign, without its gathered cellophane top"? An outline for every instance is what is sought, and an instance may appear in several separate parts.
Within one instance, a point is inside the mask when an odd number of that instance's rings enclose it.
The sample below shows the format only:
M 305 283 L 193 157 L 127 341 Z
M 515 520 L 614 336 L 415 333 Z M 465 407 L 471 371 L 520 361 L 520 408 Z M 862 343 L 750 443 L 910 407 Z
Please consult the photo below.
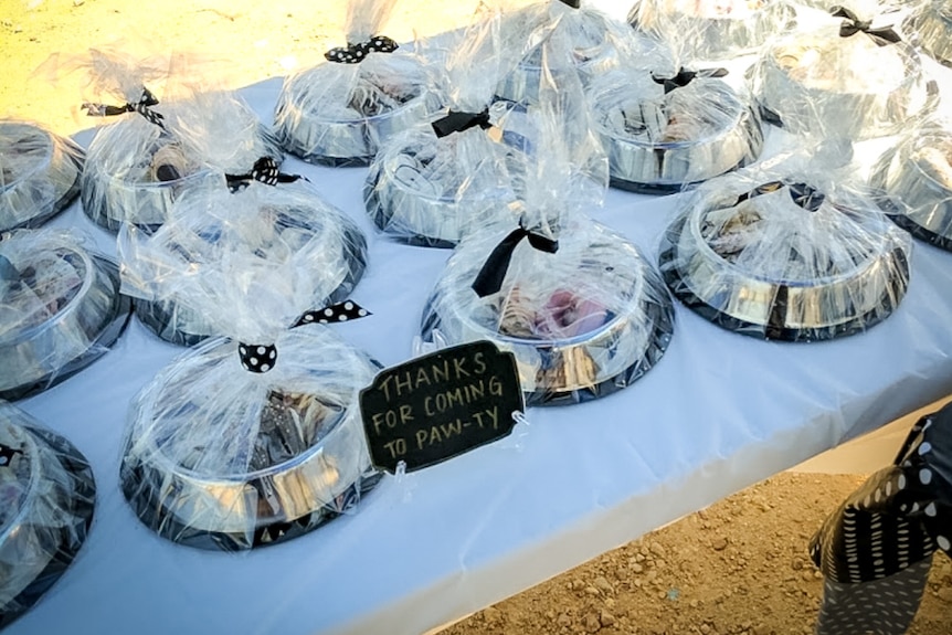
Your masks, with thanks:
M 283 334 L 275 369 L 248 381 L 237 346 L 209 340 L 157 375 L 134 403 L 120 468 L 139 519 L 201 549 L 295 538 L 380 478 L 358 406 L 378 366 L 315 325 Z M 208 382 L 218 401 L 194 388 Z

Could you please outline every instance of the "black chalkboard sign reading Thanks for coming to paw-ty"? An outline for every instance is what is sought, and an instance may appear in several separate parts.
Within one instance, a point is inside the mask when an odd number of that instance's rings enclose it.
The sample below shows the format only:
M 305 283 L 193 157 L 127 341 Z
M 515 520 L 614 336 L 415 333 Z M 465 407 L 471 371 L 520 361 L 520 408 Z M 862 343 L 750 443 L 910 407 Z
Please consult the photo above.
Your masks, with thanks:
M 360 393 L 370 457 L 395 474 L 435 465 L 512 432 L 522 387 L 511 352 L 477 341 L 378 374 Z

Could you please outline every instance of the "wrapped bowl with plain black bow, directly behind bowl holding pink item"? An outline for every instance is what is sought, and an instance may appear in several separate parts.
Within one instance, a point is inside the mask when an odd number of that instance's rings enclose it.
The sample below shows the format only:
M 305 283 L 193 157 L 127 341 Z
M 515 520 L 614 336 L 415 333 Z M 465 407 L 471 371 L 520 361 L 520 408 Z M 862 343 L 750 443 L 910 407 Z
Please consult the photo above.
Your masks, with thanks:
M 493 103 L 498 78 L 518 63 L 501 44 L 501 17 L 480 15 L 447 56 L 438 82 L 446 86 L 447 108 L 434 115 L 436 123 L 396 135 L 371 163 L 364 203 L 385 234 L 448 247 L 475 227 L 518 221 L 509 205 L 518 197 L 514 184 L 525 170 L 531 124 L 525 108 Z M 447 114 L 484 112 L 485 126 L 435 131 Z

